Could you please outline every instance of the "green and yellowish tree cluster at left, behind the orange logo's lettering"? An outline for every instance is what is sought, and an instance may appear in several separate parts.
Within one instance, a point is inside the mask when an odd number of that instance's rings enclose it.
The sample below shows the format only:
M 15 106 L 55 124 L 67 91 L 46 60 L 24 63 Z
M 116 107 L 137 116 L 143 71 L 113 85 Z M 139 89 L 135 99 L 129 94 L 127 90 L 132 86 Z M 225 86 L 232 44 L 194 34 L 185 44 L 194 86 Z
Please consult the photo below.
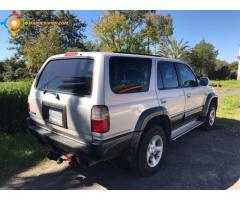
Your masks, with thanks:
M 86 50 L 84 41 L 86 36 L 83 34 L 86 24 L 69 11 L 21 11 L 20 15 L 25 22 L 66 21 L 68 25 L 21 27 L 16 38 L 10 38 L 10 43 L 13 45 L 10 49 L 15 49 L 16 54 L 3 62 L 3 70 L 0 66 L 1 77 L 6 72 L 4 80 L 20 78 L 21 75 L 30 77 L 31 72 L 35 73 L 45 59 L 53 54 L 71 49 Z M 3 80 L 3 78 L 0 79 Z

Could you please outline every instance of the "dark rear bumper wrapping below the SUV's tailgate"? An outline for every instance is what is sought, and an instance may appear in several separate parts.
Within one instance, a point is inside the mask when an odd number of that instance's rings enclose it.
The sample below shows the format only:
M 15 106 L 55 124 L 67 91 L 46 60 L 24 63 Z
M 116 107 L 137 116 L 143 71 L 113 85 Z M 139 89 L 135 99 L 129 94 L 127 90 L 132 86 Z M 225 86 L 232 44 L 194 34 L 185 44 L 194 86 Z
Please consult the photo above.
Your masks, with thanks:
M 41 127 L 30 118 L 27 118 L 27 124 L 30 132 L 53 150 L 60 153 L 73 153 L 75 156 L 91 161 L 106 160 L 127 150 L 133 135 L 133 133 L 127 133 L 105 141 L 93 140 L 91 143 L 85 143 L 66 137 L 55 130 Z

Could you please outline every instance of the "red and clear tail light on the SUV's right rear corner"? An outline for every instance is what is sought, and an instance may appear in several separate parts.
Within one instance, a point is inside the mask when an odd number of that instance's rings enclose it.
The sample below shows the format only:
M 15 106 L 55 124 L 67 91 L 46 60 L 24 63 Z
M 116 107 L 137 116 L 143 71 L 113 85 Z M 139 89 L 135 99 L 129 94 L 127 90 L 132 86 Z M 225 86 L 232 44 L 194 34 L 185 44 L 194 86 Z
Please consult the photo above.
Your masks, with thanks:
M 106 133 L 109 131 L 109 111 L 108 107 L 104 105 L 96 105 L 92 107 L 91 113 L 91 127 L 92 132 Z

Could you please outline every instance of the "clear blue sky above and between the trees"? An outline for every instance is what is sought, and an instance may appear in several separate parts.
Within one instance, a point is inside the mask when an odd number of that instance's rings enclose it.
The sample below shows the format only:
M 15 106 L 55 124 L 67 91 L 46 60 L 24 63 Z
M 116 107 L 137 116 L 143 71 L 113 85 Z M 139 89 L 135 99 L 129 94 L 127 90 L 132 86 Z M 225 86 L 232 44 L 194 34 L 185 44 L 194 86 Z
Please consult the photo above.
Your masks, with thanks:
M 92 25 L 103 11 L 72 11 L 88 26 L 85 35 L 94 39 Z M 0 21 L 3 21 L 10 11 L 0 11 Z M 240 11 L 158 11 L 161 14 L 170 13 L 173 17 L 174 36 L 183 38 L 193 47 L 201 39 L 212 43 L 219 51 L 218 58 L 232 62 L 240 45 Z M 0 60 L 10 57 L 14 52 L 7 50 L 9 33 L 0 26 Z

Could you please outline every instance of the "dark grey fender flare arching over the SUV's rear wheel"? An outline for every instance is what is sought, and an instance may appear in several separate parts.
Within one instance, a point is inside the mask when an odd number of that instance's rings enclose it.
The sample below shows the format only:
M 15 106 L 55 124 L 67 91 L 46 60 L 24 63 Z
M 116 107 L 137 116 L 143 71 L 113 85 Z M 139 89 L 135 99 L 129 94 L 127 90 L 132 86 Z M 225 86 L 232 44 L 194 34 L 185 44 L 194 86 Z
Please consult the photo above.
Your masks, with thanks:
M 170 118 L 167 109 L 163 106 L 147 109 L 139 116 L 130 143 L 130 161 L 133 161 L 133 159 L 135 159 L 144 128 L 151 119 L 158 116 L 167 116 L 170 123 Z

